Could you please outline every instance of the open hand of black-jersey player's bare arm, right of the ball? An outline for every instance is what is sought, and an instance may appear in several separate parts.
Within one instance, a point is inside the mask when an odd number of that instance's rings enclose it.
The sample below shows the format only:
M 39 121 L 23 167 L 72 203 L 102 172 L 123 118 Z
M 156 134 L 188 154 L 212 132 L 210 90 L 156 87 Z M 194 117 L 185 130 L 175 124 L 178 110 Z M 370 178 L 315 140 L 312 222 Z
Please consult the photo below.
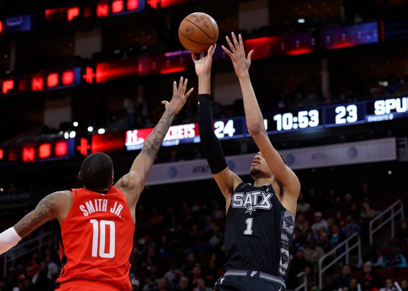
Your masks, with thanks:
M 239 41 L 235 37 L 234 33 L 231 33 L 234 44 L 231 42 L 230 38 L 225 37 L 226 42 L 231 48 L 231 51 L 228 50 L 225 46 L 222 46 L 222 49 L 225 51 L 225 54 L 230 56 L 233 61 L 235 73 L 238 77 L 245 76 L 248 74 L 249 66 L 251 65 L 251 57 L 253 50 L 249 51 L 248 56 L 245 57 L 244 42 L 242 41 L 241 34 L 238 35 Z

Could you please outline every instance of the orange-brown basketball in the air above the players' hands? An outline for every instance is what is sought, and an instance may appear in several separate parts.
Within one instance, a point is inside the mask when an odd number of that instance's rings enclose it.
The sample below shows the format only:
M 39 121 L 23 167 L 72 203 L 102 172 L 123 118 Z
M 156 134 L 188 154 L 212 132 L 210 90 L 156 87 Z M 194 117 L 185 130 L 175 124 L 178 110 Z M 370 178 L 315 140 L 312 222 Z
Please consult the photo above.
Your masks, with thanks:
M 206 51 L 218 39 L 218 25 L 210 15 L 196 12 L 180 23 L 179 39 L 192 52 Z

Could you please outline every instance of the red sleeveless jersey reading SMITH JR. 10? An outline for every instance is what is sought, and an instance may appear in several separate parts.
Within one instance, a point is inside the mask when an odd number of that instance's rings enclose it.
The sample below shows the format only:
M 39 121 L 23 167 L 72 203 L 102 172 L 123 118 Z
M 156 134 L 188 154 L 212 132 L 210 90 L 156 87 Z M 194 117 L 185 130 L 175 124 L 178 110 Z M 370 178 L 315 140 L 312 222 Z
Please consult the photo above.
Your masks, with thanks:
M 72 207 L 61 223 L 62 270 L 57 286 L 98 282 L 131 290 L 129 257 L 135 224 L 123 192 L 115 187 L 106 194 L 82 188 L 71 191 Z

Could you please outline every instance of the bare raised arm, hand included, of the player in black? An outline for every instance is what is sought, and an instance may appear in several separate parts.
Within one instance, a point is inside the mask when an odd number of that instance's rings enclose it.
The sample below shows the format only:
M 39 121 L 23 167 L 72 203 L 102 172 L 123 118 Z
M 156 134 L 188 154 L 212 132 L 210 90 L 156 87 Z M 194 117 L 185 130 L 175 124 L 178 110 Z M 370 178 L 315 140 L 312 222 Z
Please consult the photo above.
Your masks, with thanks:
M 293 204 L 292 202 L 296 202 L 297 197 L 299 196 L 300 183 L 295 173 L 285 165 L 279 153 L 274 149 L 269 140 L 268 134 L 266 133 L 264 118 L 259 108 L 257 97 L 253 92 L 248 72 L 253 50 L 251 50 L 248 56 L 245 57 L 244 44 L 241 35 L 239 35 L 239 42 L 234 33 L 232 33 L 232 39 L 234 44 L 228 37 L 226 37 L 226 41 L 230 46 L 231 51 L 224 46 L 222 46 L 222 49 L 231 57 L 235 72 L 239 79 L 242 97 L 244 99 L 245 117 L 249 134 L 261 150 L 262 155 L 265 157 L 265 160 L 276 179 L 282 183 L 285 194 L 291 196 L 292 199 L 290 200 L 292 201 L 290 201 L 290 204 Z

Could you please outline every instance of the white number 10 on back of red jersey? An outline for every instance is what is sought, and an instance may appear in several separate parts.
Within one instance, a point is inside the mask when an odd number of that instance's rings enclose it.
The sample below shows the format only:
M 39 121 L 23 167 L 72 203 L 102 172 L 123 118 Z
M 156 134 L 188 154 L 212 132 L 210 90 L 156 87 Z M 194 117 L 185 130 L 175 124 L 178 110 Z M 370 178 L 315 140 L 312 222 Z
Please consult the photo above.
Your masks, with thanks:
M 92 236 L 92 256 L 98 256 L 98 241 L 99 241 L 99 256 L 101 258 L 113 258 L 115 256 L 115 222 L 110 220 L 101 220 L 99 223 L 96 219 L 91 219 L 90 223 L 93 226 Z M 106 226 L 109 225 L 110 239 L 109 252 L 105 252 L 106 241 Z M 100 236 L 99 236 L 100 229 Z

